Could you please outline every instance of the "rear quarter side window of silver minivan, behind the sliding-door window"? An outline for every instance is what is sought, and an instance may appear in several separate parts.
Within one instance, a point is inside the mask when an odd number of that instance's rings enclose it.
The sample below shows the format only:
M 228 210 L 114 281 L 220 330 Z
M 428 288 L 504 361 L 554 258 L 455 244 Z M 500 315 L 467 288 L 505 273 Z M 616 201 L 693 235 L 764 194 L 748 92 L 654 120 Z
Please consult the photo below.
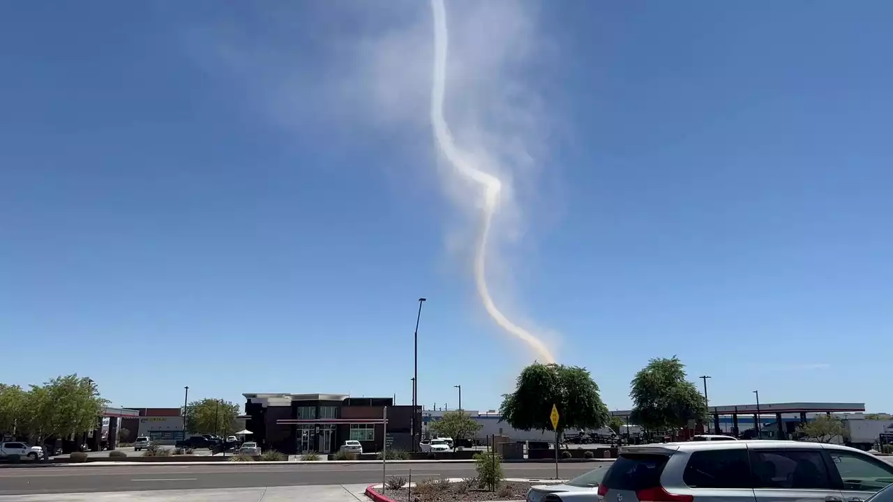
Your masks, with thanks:
M 749 472 L 744 448 L 696 451 L 682 481 L 691 488 L 750 488 Z

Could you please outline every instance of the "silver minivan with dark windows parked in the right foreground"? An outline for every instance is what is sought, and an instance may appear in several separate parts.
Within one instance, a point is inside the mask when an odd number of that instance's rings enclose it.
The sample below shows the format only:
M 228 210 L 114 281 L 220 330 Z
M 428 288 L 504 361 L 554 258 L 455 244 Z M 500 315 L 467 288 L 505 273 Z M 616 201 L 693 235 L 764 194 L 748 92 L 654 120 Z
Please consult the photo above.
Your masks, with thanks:
M 597 493 L 542 502 L 864 502 L 893 483 L 893 465 L 809 441 L 689 441 L 620 450 Z M 880 501 L 878 501 L 880 502 Z

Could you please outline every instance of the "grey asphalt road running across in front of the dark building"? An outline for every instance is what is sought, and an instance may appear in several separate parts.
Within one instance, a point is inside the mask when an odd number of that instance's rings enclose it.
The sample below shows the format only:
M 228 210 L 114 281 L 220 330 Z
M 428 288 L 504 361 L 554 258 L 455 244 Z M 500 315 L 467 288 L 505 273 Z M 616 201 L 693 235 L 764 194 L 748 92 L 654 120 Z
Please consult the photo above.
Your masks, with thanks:
M 598 464 L 560 464 L 558 475 L 572 478 Z M 388 477 L 475 476 L 474 464 L 392 464 Z M 508 478 L 554 478 L 555 464 L 503 464 Z M 352 484 L 381 481 L 381 464 L 110 465 L 0 469 L 0 495 L 79 493 L 151 489 L 248 488 Z

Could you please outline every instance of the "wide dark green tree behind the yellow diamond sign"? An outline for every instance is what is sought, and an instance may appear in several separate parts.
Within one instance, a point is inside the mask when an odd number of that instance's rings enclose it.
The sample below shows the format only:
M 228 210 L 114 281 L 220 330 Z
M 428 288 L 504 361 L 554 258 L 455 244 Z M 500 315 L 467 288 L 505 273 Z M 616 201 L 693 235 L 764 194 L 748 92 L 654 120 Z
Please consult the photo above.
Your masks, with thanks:
M 503 396 L 499 413 L 521 431 L 554 431 L 549 415 L 558 408 L 558 432 L 599 429 L 609 413 L 588 370 L 561 364 L 530 364 L 518 376 L 512 394 Z

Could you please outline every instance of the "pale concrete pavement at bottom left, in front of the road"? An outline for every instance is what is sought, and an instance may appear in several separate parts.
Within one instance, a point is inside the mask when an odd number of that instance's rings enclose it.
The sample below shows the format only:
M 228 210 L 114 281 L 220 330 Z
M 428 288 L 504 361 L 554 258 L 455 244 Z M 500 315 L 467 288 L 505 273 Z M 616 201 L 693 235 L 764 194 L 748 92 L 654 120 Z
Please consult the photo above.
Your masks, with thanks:
M 4 495 L 0 502 L 368 502 L 368 483 L 346 485 L 277 486 L 232 489 L 154 489 L 146 491 L 105 491 L 98 493 L 47 493 Z

